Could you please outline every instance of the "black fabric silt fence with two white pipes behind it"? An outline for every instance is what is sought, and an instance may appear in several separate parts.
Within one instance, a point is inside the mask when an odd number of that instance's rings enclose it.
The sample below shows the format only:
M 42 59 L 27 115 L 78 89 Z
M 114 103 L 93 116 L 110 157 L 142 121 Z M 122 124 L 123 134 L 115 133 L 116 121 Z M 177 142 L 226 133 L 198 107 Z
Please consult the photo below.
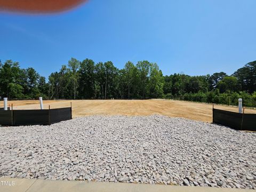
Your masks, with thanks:
M 0 110 L 0 125 L 50 125 L 71 118 L 71 107 L 42 110 Z

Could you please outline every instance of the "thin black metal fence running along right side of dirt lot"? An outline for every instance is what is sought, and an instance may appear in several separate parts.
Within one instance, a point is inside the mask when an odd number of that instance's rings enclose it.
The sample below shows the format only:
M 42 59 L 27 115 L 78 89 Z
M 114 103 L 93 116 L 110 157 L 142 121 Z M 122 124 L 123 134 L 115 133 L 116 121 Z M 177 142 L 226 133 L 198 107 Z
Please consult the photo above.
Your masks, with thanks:
M 204 103 L 216 103 L 228 106 L 238 106 L 238 99 L 233 97 L 191 97 L 191 96 L 169 96 L 166 99 L 183 100 L 183 101 L 194 101 L 194 102 L 204 102 Z M 256 98 L 242 98 L 243 107 L 256 108 Z

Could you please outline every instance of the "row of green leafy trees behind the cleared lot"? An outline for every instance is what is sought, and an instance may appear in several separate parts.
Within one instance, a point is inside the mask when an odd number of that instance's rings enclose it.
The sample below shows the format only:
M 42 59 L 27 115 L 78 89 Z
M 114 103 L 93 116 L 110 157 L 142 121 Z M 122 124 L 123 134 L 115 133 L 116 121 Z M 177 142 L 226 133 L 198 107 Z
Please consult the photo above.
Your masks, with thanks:
M 19 62 L 0 62 L 0 95 L 10 99 L 148 99 L 178 96 L 256 98 L 256 61 L 234 74 L 163 76 L 156 63 L 128 61 L 123 69 L 113 62 L 94 63 L 71 58 L 67 65 L 46 78 L 34 68 L 22 69 Z

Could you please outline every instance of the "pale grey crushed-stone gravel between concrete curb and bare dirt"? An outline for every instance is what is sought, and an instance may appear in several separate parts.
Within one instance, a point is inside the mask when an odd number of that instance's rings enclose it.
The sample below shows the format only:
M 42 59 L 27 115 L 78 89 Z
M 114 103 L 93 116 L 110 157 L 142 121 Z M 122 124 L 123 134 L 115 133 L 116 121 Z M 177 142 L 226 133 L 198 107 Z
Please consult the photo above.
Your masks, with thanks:
M 256 133 L 160 115 L 0 131 L 0 176 L 256 189 Z

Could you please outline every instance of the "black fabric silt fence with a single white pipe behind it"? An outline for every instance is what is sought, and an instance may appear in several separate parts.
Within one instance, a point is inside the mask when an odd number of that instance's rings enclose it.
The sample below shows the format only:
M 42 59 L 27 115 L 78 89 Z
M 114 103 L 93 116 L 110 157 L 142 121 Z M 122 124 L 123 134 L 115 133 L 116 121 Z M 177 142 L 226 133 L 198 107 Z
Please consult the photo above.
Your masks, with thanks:
M 256 114 L 213 109 L 213 123 L 229 126 L 235 130 L 256 131 Z

